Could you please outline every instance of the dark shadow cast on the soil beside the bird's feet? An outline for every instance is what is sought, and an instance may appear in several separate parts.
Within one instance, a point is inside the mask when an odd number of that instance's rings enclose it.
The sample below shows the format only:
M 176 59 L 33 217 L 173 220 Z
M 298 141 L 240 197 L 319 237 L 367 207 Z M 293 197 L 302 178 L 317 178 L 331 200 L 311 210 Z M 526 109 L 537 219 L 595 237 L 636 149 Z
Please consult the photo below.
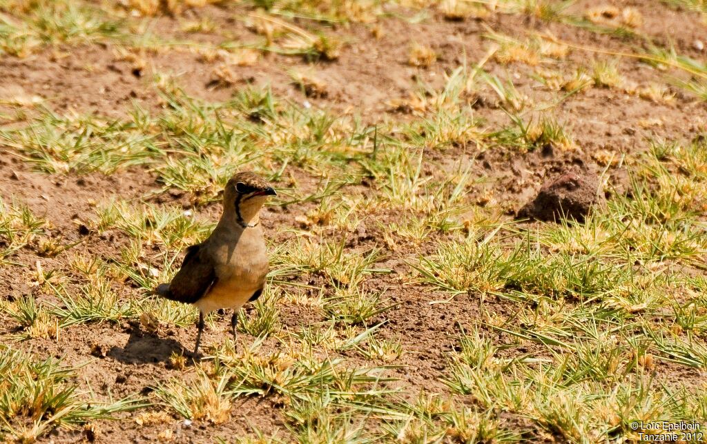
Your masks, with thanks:
M 175 352 L 191 356 L 177 340 L 146 332 L 136 323 L 132 325 L 128 342 L 123 347 L 112 347 L 107 356 L 123 364 L 157 364 L 168 361 Z

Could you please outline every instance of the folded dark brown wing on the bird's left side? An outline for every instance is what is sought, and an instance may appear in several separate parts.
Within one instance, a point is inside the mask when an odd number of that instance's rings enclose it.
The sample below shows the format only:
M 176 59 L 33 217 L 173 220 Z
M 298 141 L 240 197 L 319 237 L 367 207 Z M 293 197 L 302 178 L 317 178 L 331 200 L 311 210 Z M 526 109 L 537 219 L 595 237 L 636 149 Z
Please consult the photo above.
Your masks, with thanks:
M 194 304 L 216 284 L 214 263 L 204 251 L 203 244 L 187 248 L 177 275 L 170 282 L 168 299 Z

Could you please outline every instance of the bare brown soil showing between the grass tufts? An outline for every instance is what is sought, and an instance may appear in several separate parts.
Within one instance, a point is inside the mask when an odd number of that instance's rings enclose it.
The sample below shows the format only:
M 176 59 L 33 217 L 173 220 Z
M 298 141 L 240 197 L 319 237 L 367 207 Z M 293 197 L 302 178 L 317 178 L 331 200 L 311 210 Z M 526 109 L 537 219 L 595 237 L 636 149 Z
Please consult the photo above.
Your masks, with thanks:
M 245 2 L 247 3 L 247 2 Z M 355 3 L 355 2 L 354 2 Z M 636 53 L 648 49 L 650 44 L 672 45 L 684 56 L 704 61 L 706 53 L 699 49 L 696 40 L 707 40 L 707 27 L 699 13 L 669 8 L 653 1 L 615 2 L 624 8 L 631 6 L 640 12 L 642 23 L 638 28 L 641 37 L 624 37 L 612 33 L 596 32 L 571 23 L 544 21 L 532 13 L 491 12 L 485 18 L 448 20 L 438 8 L 423 9 L 386 6 L 387 16 L 378 16 L 370 23 L 356 20 L 351 23 L 327 25 L 316 20 L 288 19 L 300 28 L 310 32 L 324 30 L 336 35 L 344 42 L 339 56 L 332 61 L 307 61 L 302 56 L 261 52 L 253 64 L 234 64 L 228 67 L 228 81 L 218 76 L 214 70 L 218 61 L 204 61 L 194 49 L 196 43 L 204 47 L 223 43 L 253 43 L 262 41 L 262 32 L 249 26 L 243 17 L 255 11 L 250 4 L 207 5 L 187 8 L 180 16 L 158 13 L 152 18 L 127 16 L 127 29 L 135 32 L 148 26 L 151 35 L 165 42 L 192 42 L 192 46 L 175 45 L 160 50 L 145 50 L 136 62 L 120 55 L 120 44 L 110 39 L 101 42 L 57 42 L 35 49 L 31 54 L 15 56 L 5 54 L 0 59 L 0 96 L 3 121 L 1 128 L 9 131 L 26 124 L 38 107 L 32 98 L 41 101 L 42 106 L 60 115 L 95 114 L 110 119 L 124 119 L 129 115 L 132 104 L 158 115 L 167 105 L 160 96 L 155 78 L 158 74 L 169 74 L 187 95 L 204 102 L 222 102 L 236 95 L 248 85 L 269 85 L 279 100 L 290 100 L 297 107 L 305 103 L 314 109 L 326 109 L 334 116 L 358 116 L 363 126 L 372 126 L 384 121 L 410 122 L 421 119 L 423 112 L 417 112 L 409 104 L 398 107 L 395 100 L 406 100 L 419 90 L 423 82 L 431 90 L 440 90 L 445 85 L 445 74 L 451 73 L 462 64 L 472 65 L 484 59 L 491 47 L 485 38 L 491 30 L 525 40 L 534 33 L 554 35 L 563 42 L 571 42 L 571 49 L 561 60 L 548 68 L 559 68 L 572 73 L 588 59 L 604 56 L 586 50 L 602 49 L 606 52 Z M 563 11 L 581 17 L 593 2 L 578 1 Z M 113 6 L 110 6 L 111 8 Z M 119 8 L 116 8 L 118 10 Z M 3 11 L 13 16 L 13 11 Z M 395 13 L 395 14 L 393 14 Z M 14 16 L 13 16 L 14 17 Z M 18 14 L 13 20 L 20 20 Z M 213 25 L 212 30 L 185 32 L 185 21 L 206 20 Z M 148 22 L 149 25 L 144 25 Z M 142 27 L 142 28 L 141 28 Z M 378 35 L 378 37 L 376 37 Z M 409 64 L 411 42 L 429 47 L 436 53 L 436 61 L 429 67 Z M 1 54 L 1 53 L 0 53 Z M 456 162 L 463 160 L 471 165 L 470 174 L 479 179 L 469 186 L 466 193 L 471 202 L 481 202 L 486 210 L 497 217 L 499 222 L 513 220 L 513 214 L 537 192 L 544 179 L 566 169 L 575 168 L 583 172 L 602 172 L 608 169 L 607 196 L 621 193 L 629 186 L 626 169 L 621 162 L 609 163 L 607 156 L 630 158 L 648 147 L 647 140 L 691 140 L 705 131 L 706 102 L 690 95 L 685 90 L 674 88 L 667 82 L 665 71 L 656 69 L 640 59 L 624 57 L 617 59 L 617 68 L 624 76 L 626 84 L 648 85 L 657 83 L 667 88 L 666 95 L 651 100 L 649 95 L 641 95 L 621 88 L 589 88 L 575 95 L 555 102 L 564 92 L 557 93 L 545 87 L 530 75 L 539 66 L 515 62 L 503 64 L 492 58 L 485 66 L 486 71 L 499 78 L 512 78 L 521 95 L 530 97 L 534 104 L 548 104 L 551 112 L 571 132 L 575 144 L 573 150 L 549 146 L 545 149 L 511 150 L 503 146 L 489 146 L 479 149 L 475 140 L 455 140 L 444 149 L 430 149 L 425 152 L 423 171 L 431 176 L 444 174 Z M 307 69 L 316 73 L 323 84 L 325 94 L 308 94 L 293 85 L 291 69 Z M 677 72 L 674 76 L 683 76 Z M 25 102 L 23 102 L 23 100 Z M 18 102 L 22 102 L 18 104 Z M 503 128 L 509 124 L 508 115 L 499 106 L 499 98 L 490 88 L 481 88 L 473 99 L 474 118 L 484 121 L 481 128 Z M 22 114 L 20 114 L 22 112 Z M 351 164 L 351 168 L 355 165 Z M 279 177 L 276 186 L 292 191 L 292 183 L 300 190 L 291 196 L 307 196 L 320 186 L 319 178 L 308 169 L 298 166 L 287 167 L 287 174 Z M 291 179 L 287 179 L 287 178 Z M 158 181 L 159 172 L 152 165 L 122 166 L 115 172 L 73 171 L 47 174 L 37 170 L 36 162 L 22 149 L 11 143 L 0 141 L 0 197 L 6 204 L 24 203 L 40 217 L 49 220 L 43 239 L 59 239 L 59 244 L 75 244 L 69 250 L 55 256 L 42 255 L 37 241 L 8 256 L 6 265 L 0 268 L 0 299 L 8 301 L 30 294 L 45 304 L 59 304 L 59 299 L 46 286 L 37 284 L 37 264 L 42 269 L 57 270 L 68 277 L 69 292 L 78 291 L 85 277 L 72 271 L 68 265 L 74 254 L 98 256 L 102 260 L 119 260 L 121 252 L 130 244 L 130 239 L 119 229 L 94 232 L 87 229 L 90 215 L 95 214 L 97 202 L 119 196 L 127 201 L 144 201 L 155 205 L 181 205 L 192 209 L 204 221 L 215 221 L 220 212 L 218 203 L 192 206 L 194 200 L 185 191 L 172 188 L 163 191 Z M 293 178 L 293 179 L 292 179 Z M 373 196 L 375 184 L 363 179 L 358 184 L 346 188 L 347 193 L 356 196 Z M 305 190 L 307 192 L 305 192 Z M 264 211 L 263 224 L 273 248 L 278 244 L 304 236 L 304 232 L 314 230 L 316 235 L 341 239 L 346 233 L 346 248 L 352 252 L 365 252 L 378 248 L 382 252 L 374 268 L 390 270 L 372 274 L 366 279 L 366 289 L 385 292 L 386 304 L 392 305 L 370 322 L 387 320 L 378 332 L 379 339 L 396 340 L 402 338 L 404 354 L 390 363 L 386 376 L 395 378 L 388 383 L 392 388 L 402 388 L 402 396 L 414 399 L 420 390 L 449 394 L 450 389 L 440 382 L 440 375 L 447 371 L 448 354 L 458 349 L 455 337 L 460 329 L 469 329 L 483 318 L 483 311 L 493 316 L 510 317 L 515 306 L 505 299 L 486 296 L 485 301 L 476 292 L 450 294 L 409 279 L 414 270 L 409 266 L 413 258 L 434 253 L 440 242 L 448 241 L 451 234 L 431 230 L 424 241 L 417 244 L 400 242 L 392 246 L 385 241 L 386 224 L 399 221 L 402 210 L 390 208 L 371 217 L 359 217 L 357 226 L 347 232 L 346 228 L 317 227 L 296 219 L 312 208 L 316 201 L 296 202 L 291 205 L 272 205 Z M 291 228 L 292 230 L 288 230 Z M 4 240 L 6 242 L 6 239 Z M 1 244 L 0 244 L 1 245 Z M 156 258 L 155 251 L 148 251 L 148 258 Z M 153 254 L 154 253 L 154 254 Z M 150 259 L 146 259 L 150 260 Z M 157 260 L 153 265 L 159 267 Z M 287 278 L 309 287 L 314 297 L 318 289 L 331 286 L 327 277 L 316 273 Z M 112 292 L 120 300 L 144 298 L 144 290 L 138 284 L 125 280 L 120 285 L 112 282 Z M 306 295 L 305 295 L 306 296 Z M 430 304 L 430 301 L 444 301 Z M 484 314 L 489 316 L 489 313 Z M 14 349 L 30 352 L 33 356 L 61 357 L 69 366 L 79 366 L 75 383 L 86 390 L 90 387 L 98 399 L 115 399 L 132 395 L 150 396 L 151 387 L 170 378 L 181 378 L 183 371 L 170 366 L 170 355 L 189 349 L 195 328 L 181 328 L 162 323 L 157 332 L 148 332 L 136 318 L 116 322 L 81 323 L 62 328 L 59 337 L 29 338 L 16 340 L 13 335 L 19 331 L 17 323 L 6 313 L 0 313 L 2 320 L 0 342 L 10 344 Z M 228 315 L 216 316 L 214 325 L 206 331 L 205 341 L 218 343 L 226 335 Z M 282 304 L 280 323 L 285 330 L 296 331 L 303 325 L 319 323 L 322 314 L 315 308 Z M 498 344 L 510 341 L 507 335 L 496 330 L 486 330 L 486 338 Z M 240 347 L 247 347 L 255 338 L 242 334 Z M 510 341 L 512 342 L 512 341 Z M 285 344 L 269 337 L 264 347 L 278 349 Z M 529 343 L 513 353 L 544 355 L 545 348 Z M 366 359 L 354 351 L 339 352 L 349 365 L 367 365 Z M 368 363 L 370 364 L 370 363 Z M 189 371 L 191 364 L 187 366 Z M 703 368 L 690 368 L 668 362 L 658 366 L 663 380 L 678 383 L 704 381 Z M 476 402 L 472 397 L 460 402 Z M 170 419 L 158 426 L 139 426 L 135 418 L 141 411 L 118 414 L 125 421 L 94 421 L 99 442 L 143 442 L 165 438 L 164 431 L 170 429 L 172 439 L 179 442 L 213 442 L 216 437 L 233 440 L 235 436 L 252 436 L 255 428 L 264 436 L 278 433 L 280 439 L 292 439 L 286 431 L 286 417 L 278 397 L 238 397 L 233 401 L 230 419 L 220 424 L 209 421 L 194 421 L 185 426 L 182 419 L 170 412 Z M 158 411 L 150 407 L 146 411 Z M 544 428 L 537 421 L 512 412 L 499 412 L 498 424 L 521 433 L 524 439 L 563 442 L 569 440 L 552 430 Z M 255 428 L 254 428 L 255 427 Z M 162 433 L 161 438 L 158 437 Z M 45 434 L 40 440 L 55 443 L 75 442 L 93 437 L 78 427 L 74 431 L 64 428 Z M 423 440 L 421 440 L 422 442 Z

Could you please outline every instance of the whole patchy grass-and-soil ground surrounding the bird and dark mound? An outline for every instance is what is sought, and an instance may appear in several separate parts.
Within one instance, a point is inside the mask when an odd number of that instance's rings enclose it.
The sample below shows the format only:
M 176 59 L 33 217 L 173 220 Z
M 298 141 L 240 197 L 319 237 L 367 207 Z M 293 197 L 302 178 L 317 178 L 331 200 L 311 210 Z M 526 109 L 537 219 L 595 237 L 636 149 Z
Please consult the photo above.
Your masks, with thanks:
M 707 368 L 707 146 L 701 116 L 685 114 L 699 103 L 682 94 L 704 98 L 707 70 L 653 46 L 636 9 L 109 6 L 0 0 L 0 54 L 37 54 L 12 62 L 9 81 L 26 75 L 26 91 L 0 91 L 0 184 L 25 196 L 0 203 L 0 320 L 8 343 L 32 353 L 0 347 L 0 440 L 80 439 L 79 426 L 93 439 L 106 417 L 148 407 L 112 400 L 134 384 L 153 404 L 117 440 L 226 442 L 233 426 L 244 443 L 590 443 L 635 440 L 634 420 L 707 417 L 697 378 Z M 539 20 L 562 38 L 539 34 Z M 396 47 L 402 33 L 420 44 Z M 86 60 L 69 54 L 77 44 Z M 64 90 L 52 88 L 63 85 L 26 72 L 45 62 L 99 86 L 117 79 L 95 103 L 133 91 L 132 107 L 112 119 L 74 112 L 93 107 L 94 92 L 58 78 L 86 94 L 59 102 Z M 357 95 L 369 81 L 375 90 Z M 36 99 L 45 85 L 56 100 Z M 660 118 L 645 118 L 652 108 Z M 544 179 L 575 167 L 602 183 L 583 222 L 512 220 Z M 175 344 L 192 338 L 197 310 L 151 291 L 213 229 L 223 185 L 244 169 L 277 190 L 262 215 L 265 291 L 239 313 L 245 335 L 230 340 L 214 314 L 205 356 L 189 356 Z M 54 212 L 62 191 L 51 184 L 81 174 L 139 183 Z M 86 180 L 77 198 L 107 183 Z M 64 352 L 76 368 L 44 360 Z M 76 431 L 47 436 L 57 426 Z

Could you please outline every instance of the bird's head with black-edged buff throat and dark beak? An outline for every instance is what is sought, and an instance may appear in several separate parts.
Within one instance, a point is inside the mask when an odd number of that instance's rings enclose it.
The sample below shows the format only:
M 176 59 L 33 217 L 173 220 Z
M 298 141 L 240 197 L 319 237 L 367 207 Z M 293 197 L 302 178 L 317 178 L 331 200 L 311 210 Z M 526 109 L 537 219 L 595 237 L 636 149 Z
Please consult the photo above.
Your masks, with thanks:
M 276 196 L 274 188 L 262 177 L 251 172 L 239 172 L 230 178 L 223 190 L 224 213 L 231 213 L 241 226 L 258 222 L 258 212 L 269 196 Z M 229 217 L 230 219 L 230 217 Z

